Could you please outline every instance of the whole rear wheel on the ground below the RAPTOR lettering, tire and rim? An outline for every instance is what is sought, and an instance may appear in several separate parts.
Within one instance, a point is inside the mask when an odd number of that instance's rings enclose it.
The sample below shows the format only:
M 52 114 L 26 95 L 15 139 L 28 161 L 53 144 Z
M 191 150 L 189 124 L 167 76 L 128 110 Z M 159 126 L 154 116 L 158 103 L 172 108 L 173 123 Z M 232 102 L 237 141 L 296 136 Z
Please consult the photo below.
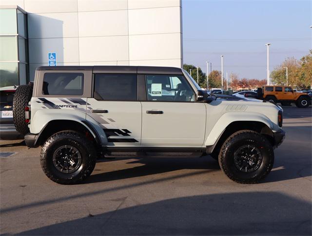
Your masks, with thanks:
M 40 163 L 54 182 L 76 184 L 91 175 L 96 157 L 92 141 L 75 131 L 61 131 L 42 146 Z

